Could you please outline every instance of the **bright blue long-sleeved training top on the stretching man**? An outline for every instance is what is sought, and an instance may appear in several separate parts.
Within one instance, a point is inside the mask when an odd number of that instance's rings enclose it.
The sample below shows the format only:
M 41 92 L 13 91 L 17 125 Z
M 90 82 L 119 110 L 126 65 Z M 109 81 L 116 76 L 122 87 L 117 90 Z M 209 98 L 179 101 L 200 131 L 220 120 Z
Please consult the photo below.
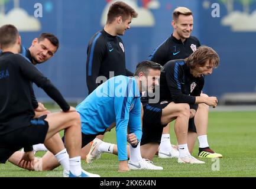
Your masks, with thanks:
M 116 76 L 98 86 L 76 107 L 82 132 L 95 135 L 116 123 L 118 160 L 127 160 L 127 127 L 141 140 L 140 92 L 134 77 Z

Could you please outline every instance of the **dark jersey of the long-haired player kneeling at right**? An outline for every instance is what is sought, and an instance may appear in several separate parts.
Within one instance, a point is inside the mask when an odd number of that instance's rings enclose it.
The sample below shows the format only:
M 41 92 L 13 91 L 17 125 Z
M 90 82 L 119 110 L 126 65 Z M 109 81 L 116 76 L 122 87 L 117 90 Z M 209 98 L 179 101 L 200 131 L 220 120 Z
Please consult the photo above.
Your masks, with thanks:
M 195 105 L 196 96 L 200 96 L 204 84 L 204 77 L 194 77 L 183 59 L 168 61 L 160 76 L 160 102 Z M 192 108 L 196 109 L 196 106 Z

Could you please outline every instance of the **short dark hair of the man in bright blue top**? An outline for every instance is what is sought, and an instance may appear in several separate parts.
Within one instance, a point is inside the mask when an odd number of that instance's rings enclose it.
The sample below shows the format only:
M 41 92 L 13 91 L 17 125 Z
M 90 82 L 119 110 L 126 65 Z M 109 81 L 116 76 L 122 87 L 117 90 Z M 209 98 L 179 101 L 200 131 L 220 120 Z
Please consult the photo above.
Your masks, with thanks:
M 150 60 L 141 61 L 136 66 L 136 71 L 134 73 L 134 76 L 139 76 L 140 72 L 143 72 L 144 74 L 148 75 L 148 72 L 150 69 L 161 71 L 163 69 L 163 66 L 161 66 L 158 63 L 154 63 L 153 61 L 150 61 Z

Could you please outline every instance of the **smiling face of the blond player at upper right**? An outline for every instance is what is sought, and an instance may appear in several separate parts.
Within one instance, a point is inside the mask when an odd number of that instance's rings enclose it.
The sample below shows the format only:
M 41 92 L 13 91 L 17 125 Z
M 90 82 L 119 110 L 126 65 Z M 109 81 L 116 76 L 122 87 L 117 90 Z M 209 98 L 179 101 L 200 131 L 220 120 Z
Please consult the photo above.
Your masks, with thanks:
M 174 28 L 174 37 L 176 37 L 178 40 L 185 40 L 186 38 L 190 37 L 193 30 L 193 16 L 180 14 L 176 21 L 171 22 L 171 25 L 173 25 Z

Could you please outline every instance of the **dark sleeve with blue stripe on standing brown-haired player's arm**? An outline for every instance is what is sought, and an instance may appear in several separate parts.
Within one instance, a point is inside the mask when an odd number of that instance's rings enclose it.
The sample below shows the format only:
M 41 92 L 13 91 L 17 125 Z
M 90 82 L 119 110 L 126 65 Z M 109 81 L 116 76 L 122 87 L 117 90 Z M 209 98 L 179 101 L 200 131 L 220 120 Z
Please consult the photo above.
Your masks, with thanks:
M 105 44 L 103 44 L 100 39 L 94 38 L 88 46 L 86 60 L 86 83 L 89 94 L 99 86 L 99 84 L 96 83 L 96 79 L 99 76 L 104 53 Z

